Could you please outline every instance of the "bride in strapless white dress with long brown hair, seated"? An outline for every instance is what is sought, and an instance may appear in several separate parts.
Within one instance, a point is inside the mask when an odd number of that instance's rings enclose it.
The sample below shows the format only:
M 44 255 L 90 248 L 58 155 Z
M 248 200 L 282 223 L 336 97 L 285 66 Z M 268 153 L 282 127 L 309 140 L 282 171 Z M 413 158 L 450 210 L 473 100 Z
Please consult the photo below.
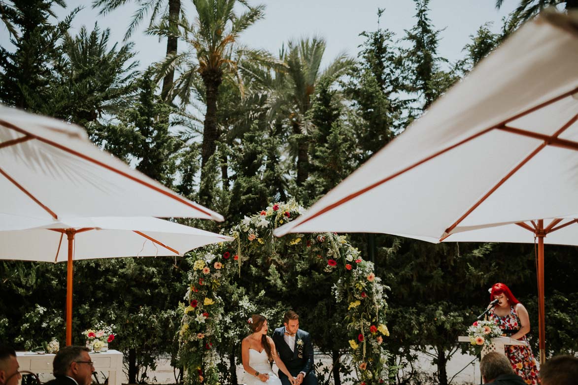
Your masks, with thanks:
M 249 378 L 245 379 L 247 385 L 262 385 L 262 383 L 281 385 L 281 380 L 271 369 L 273 360 L 280 371 L 289 377 L 291 385 L 294 385 L 295 378 L 277 356 L 275 343 L 267 335 L 267 319 L 260 314 L 254 314 L 247 322 L 249 322 L 252 333 L 243 338 L 241 343 L 243 369 L 245 369 L 245 373 L 249 374 L 249 376 L 246 376 Z

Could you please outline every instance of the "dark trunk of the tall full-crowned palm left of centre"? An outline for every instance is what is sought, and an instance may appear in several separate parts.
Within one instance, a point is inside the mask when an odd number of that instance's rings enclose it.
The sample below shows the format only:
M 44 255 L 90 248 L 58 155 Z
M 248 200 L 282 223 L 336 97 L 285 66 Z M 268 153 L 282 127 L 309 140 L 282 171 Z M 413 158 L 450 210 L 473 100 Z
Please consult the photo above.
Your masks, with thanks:
M 199 189 L 199 203 L 207 204 L 212 201 L 208 191 L 209 183 L 205 181 L 205 165 L 209 158 L 217 149 L 216 141 L 218 139 L 217 129 L 217 98 L 218 86 L 223 81 L 223 72 L 221 70 L 207 70 L 201 73 L 203 84 L 205 84 L 207 112 L 205 114 L 205 124 L 203 128 L 203 144 L 201 147 L 201 188 Z M 203 186 L 207 186 L 203 188 Z

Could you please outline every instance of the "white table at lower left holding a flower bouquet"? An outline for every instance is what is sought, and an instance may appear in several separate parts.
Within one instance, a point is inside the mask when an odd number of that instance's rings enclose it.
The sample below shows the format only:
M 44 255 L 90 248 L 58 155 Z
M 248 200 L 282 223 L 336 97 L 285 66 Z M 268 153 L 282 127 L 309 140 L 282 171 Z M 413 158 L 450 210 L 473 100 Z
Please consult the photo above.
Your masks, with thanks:
M 109 350 L 104 353 L 88 353 L 90 360 L 94 362 L 97 371 L 109 372 L 109 385 L 122 385 L 123 383 L 123 353 L 117 350 Z M 31 352 L 16 352 L 18 365 L 21 371 L 32 373 L 52 373 L 52 361 L 55 354 L 36 354 Z

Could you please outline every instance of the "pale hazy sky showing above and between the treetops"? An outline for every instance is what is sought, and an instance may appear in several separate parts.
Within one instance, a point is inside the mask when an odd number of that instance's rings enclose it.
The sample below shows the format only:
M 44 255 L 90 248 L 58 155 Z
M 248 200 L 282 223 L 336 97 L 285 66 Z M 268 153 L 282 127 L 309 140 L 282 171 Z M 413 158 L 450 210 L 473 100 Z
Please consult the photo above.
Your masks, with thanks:
M 362 31 L 377 29 L 377 9 L 384 8 L 380 27 L 390 29 L 397 38 L 401 38 L 405 29 L 414 25 L 415 3 L 413 0 L 249 0 L 251 5 L 264 3 L 265 18 L 257 21 L 243 33 L 240 41 L 253 48 L 265 48 L 277 55 L 281 44 L 290 39 L 321 36 L 327 41 L 324 65 L 340 53 L 346 52 L 357 57 L 358 46 L 363 42 L 359 36 Z M 91 8 L 90 0 L 68 0 L 67 8 L 55 8 L 57 16 L 63 18 L 76 6 L 83 6 L 73 23 L 72 33 L 81 25 L 92 30 L 95 21 L 99 27 L 110 28 L 110 40 L 121 42 L 135 12 L 135 1 L 114 10 L 106 16 L 98 16 Z M 440 32 L 439 54 L 455 62 L 464 56 L 462 48 L 469 42 L 480 25 L 493 21 L 492 31 L 498 32 L 502 18 L 517 5 L 518 0 L 505 0 L 500 10 L 495 9 L 495 0 L 431 0 L 429 18 Z M 192 10 L 192 1 L 183 0 L 186 8 Z M 189 12 L 188 14 L 191 14 Z M 146 36 L 143 31 L 148 18 L 143 20 L 139 29 L 131 36 L 138 51 L 136 58 L 140 69 L 164 57 L 166 43 L 159 42 L 154 36 Z M 0 27 L 0 43 L 10 50 L 8 32 Z

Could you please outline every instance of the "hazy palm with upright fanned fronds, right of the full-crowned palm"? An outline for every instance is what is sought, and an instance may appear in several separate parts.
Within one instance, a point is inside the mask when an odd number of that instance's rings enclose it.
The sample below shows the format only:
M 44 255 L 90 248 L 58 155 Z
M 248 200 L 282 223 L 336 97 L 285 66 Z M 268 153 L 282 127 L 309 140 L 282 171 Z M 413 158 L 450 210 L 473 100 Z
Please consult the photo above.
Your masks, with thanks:
M 277 85 L 272 90 L 272 113 L 284 115 L 291 128 L 294 152 L 297 153 L 299 186 L 309 177 L 309 135 L 313 125 L 307 111 L 312 105 L 317 84 L 321 79 L 333 83 L 354 64 L 353 59 L 342 53 L 322 71 L 321 61 L 325 46 L 323 38 L 314 37 L 301 39 L 299 42 L 290 41 L 287 51 L 281 48 L 280 59 L 287 69 L 285 73 L 277 74 Z

